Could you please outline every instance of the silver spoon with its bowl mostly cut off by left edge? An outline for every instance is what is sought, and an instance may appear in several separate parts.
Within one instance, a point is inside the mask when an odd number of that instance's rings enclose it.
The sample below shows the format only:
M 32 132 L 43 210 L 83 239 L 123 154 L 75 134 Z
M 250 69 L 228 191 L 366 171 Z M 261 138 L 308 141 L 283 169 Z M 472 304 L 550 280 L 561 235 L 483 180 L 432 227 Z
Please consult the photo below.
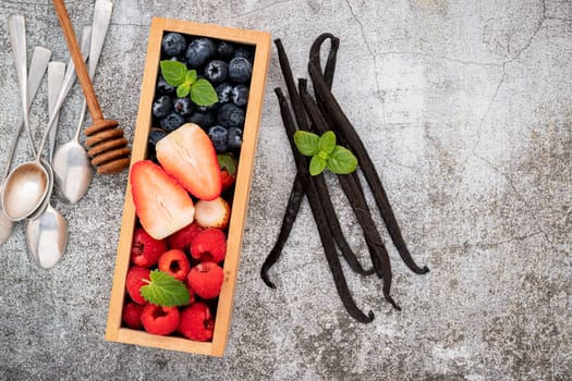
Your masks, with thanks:
M 38 91 L 38 88 L 41 84 L 41 79 L 44 78 L 44 74 L 46 73 L 46 69 L 48 67 L 48 62 L 50 61 L 51 57 L 51 50 L 42 48 L 42 47 L 36 47 L 34 49 L 34 53 L 32 54 L 32 63 L 29 64 L 29 72 L 28 72 L 28 103 L 27 109 L 22 110 L 22 113 L 20 113 L 17 123 L 16 123 L 16 131 L 14 134 L 14 137 L 12 139 L 10 151 L 8 153 L 8 161 L 4 169 L 4 174 L 2 175 L 2 183 L 8 177 L 8 174 L 10 173 L 10 167 L 12 165 L 12 160 L 14 158 L 14 153 L 16 151 L 17 142 L 20 139 L 20 134 L 22 133 L 22 127 L 24 126 L 24 115 L 23 113 L 29 110 L 29 107 L 32 106 L 32 101 L 36 97 L 36 93 Z M 34 144 L 31 140 L 31 147 L 32 151 L 35 153 Z M 1 190 L 1 185 L 0 185 Z M 10 235 L 12 235 L 12 231 L 14 228 L 14 223 L 5 217 L 3 210 L 0 210 L 0 245 L 3 245 Z

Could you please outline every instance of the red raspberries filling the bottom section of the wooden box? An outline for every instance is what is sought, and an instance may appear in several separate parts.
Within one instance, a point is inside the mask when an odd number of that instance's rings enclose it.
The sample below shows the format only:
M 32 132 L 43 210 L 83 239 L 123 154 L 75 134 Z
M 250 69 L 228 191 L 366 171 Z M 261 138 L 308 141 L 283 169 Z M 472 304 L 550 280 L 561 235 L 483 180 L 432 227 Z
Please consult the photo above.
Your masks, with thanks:
M 154 334 L 180 334 L 194 341 L 212 340 L 217 298 L 224 280 L 222 261 L 227 236 L 220 229 L 203 229 L 196 222 L 165 239 L 153 238 L 136 228 L 131 249 L 123 322 L 131 329 Z M 184 282 L 188 305 L 161 307 L 147 303 L 141 295 L 149 273 L 159 269 Z

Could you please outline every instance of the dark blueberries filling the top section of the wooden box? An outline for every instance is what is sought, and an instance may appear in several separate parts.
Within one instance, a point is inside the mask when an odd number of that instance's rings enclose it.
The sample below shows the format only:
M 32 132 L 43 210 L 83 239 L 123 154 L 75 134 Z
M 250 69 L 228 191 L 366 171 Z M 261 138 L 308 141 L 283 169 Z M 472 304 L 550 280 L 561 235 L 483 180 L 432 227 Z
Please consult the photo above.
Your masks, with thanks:
M 177 88 L 159 75 L 153 103 L 150 148 L 182 124 L 195 123 L 207 132 L 218 153 L 238 153 L 242 145 L 254 47 L 166 33 L 161 41 L 161 60 L 177 60 L 188 70 L 196 70 L 198 77 L 209 81 L 215 87 L 218 102 L 197 106 L 188 96 L 178 98 Z

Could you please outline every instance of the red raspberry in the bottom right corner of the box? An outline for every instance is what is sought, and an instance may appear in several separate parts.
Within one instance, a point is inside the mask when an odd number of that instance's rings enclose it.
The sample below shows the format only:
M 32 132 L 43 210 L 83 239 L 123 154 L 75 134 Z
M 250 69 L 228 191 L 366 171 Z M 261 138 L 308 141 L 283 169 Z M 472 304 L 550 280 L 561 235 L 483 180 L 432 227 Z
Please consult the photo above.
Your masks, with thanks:
M 208 342 L 212 339 L 215 320 L 208 306 L 197 302 L 181 311 L 178 331 L 190 340 Z

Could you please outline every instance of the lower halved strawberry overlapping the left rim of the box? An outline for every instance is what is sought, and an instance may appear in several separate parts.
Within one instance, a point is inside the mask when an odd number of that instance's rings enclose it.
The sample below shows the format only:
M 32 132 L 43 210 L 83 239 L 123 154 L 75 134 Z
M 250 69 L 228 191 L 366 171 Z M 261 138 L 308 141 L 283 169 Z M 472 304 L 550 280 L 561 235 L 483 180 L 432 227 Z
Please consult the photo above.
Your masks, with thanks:
M 191 196 L 153 161 L 133 164 L 130 181 L 139 222 L 155 239 L 162 239 L 193 222 L 195 207 Z

